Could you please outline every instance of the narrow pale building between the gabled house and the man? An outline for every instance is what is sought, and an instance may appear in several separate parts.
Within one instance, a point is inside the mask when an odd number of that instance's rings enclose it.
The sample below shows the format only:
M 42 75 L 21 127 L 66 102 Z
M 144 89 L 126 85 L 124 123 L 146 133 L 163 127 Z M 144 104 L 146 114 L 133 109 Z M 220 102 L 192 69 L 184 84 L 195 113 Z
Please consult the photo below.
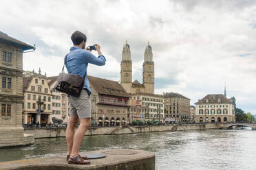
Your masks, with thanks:
M 69 113 L 69 102 L 67 94 L 61 93 L 54 88 L 57 83 L 57 76 L 47 77 L 47 82 L 52 92 L 52 121 L 67 123 Z

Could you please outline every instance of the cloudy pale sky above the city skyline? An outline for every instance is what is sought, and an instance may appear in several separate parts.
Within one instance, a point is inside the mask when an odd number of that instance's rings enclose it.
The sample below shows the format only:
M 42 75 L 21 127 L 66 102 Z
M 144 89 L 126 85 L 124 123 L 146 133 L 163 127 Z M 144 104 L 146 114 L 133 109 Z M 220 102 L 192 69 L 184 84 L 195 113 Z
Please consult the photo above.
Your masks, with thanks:
M 0 6 L 0 31 L 36 45 L 23 70 L 58 75 L 75 30 L 99 44 L 105 66 L 88 75 L 120 80 L 122 47 L 131 48 L 133 81 L 142 83 L 147 42 L 155 63 L 155 93 L 180 93 L 193 105 L 207 94 L 235 96 L 256 114 L 256 1 L 13 1 Z M 96 53 L 94 53 L 96 55 Z

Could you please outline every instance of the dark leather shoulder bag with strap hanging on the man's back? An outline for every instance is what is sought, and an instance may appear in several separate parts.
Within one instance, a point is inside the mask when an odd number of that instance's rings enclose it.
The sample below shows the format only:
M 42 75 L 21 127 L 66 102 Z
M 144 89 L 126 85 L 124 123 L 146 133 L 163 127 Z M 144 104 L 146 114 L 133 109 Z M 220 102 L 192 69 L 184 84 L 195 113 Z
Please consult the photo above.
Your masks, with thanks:
M 62 93 L 66 93 L 67 95 L 79 97 L 81 94 L 81 90 L 83 89 L 87 71 L 85 71 L 85 75 L 83 75 L 83 77 L 77 74 L 65 73 L 64 66 L 66 62 L 67 55 L 64 59 L 62 72 L 58 75 L 57 83 L 54 88 Z

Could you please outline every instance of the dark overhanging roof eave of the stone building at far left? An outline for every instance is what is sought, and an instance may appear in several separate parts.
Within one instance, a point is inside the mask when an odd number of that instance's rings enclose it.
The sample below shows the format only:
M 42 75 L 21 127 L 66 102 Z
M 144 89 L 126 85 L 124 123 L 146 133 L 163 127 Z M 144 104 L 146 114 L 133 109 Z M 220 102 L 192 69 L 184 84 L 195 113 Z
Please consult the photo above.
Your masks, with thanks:
M 10 36 L 8 36 L 8 34 L 3 33 L 0 31 L 0 42 L 6 42 L 12 45 L 18 45 L 19 47 L 21 47 L 23 49 L 23 51 L 28 50 L 28 49 L 34 49 L 34 47 L 32 45 L 28 45 L 25 42 L 22 42 L 20 40 L 17 40 L 15 38 L 12 38 Z

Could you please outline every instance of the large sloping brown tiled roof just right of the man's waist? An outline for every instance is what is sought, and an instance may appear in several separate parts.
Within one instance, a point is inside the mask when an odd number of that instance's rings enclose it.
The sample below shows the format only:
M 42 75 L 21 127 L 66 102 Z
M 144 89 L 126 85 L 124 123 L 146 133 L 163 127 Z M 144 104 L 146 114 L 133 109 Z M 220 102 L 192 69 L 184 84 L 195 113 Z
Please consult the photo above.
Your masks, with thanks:
M 125 88 L 122 88 L 122 86 L 116 81 L 92 77 L 89 75 L 88 79 L 89 83 L 92 84 L 93 88 L 99 94 L 130 97 L 129 94 L 125 91 Z

